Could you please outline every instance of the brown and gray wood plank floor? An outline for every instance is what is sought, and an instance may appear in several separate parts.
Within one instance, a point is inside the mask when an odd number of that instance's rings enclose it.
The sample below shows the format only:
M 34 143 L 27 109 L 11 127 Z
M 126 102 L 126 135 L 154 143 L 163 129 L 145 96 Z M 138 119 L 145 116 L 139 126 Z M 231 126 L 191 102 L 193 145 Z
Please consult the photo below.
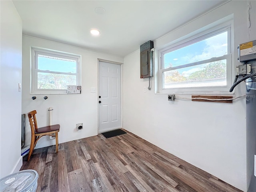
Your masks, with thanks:
M 129 132 L 34 150 L 26 169 L 39 174 L 37 192 L 241 192 Z

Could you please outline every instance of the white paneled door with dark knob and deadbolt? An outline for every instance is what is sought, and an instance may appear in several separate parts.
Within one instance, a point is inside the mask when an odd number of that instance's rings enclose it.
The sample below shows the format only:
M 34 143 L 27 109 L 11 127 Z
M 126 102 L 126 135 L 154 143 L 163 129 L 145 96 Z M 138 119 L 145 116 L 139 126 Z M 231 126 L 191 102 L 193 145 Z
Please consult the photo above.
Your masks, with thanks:
M 121 127 L 121 66 L 99 62 L 99 132 Z

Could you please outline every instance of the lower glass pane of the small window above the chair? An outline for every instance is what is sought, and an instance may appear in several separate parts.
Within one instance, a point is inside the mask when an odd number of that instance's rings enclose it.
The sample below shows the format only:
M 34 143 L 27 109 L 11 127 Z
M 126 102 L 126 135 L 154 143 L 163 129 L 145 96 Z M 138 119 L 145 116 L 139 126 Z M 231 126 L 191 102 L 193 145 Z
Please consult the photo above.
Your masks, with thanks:
M 38 72 L 38 89 L 67 89 L 67 85 L 76 85 L 76 75 Z

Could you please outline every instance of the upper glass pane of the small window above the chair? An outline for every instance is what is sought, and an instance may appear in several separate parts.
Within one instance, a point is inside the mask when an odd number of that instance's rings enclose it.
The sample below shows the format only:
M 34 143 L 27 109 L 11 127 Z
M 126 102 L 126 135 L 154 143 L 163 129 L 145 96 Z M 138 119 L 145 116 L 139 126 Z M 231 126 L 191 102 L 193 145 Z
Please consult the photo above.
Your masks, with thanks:
M 38 54 L 38 69 L 56 72 L 76 73 L 76 60 Z

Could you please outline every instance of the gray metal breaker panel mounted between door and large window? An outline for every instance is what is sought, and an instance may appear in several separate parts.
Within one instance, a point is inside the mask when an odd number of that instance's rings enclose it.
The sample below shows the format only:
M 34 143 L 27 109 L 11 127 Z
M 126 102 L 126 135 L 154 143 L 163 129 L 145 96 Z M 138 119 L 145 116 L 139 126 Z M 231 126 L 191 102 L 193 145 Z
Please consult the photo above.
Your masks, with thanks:
M 153 50 L 154 42 L 148 41 L 140 46 L 140 78 L 153 76 Z

